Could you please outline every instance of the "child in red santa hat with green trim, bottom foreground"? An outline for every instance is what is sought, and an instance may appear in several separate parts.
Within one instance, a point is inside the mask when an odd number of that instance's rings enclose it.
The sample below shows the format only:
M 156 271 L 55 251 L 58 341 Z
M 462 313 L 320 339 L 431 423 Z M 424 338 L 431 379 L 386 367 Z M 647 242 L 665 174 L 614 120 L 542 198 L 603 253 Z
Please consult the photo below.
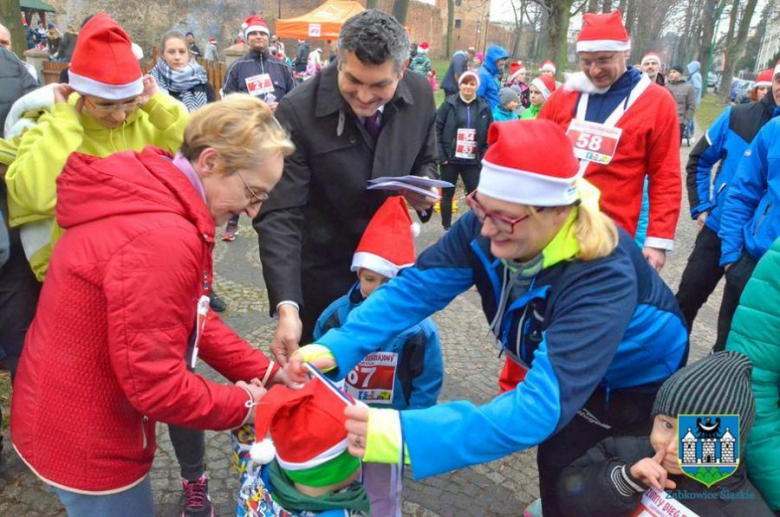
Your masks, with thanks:
M 240 452 L 246 468 L 236 515 L 385 515 L 372 512 L 360 460 L 347 451 L 347 404 L 355 400 L 319 377 L 299 390 L 271 388 L 255 407 L 257 432 Z

